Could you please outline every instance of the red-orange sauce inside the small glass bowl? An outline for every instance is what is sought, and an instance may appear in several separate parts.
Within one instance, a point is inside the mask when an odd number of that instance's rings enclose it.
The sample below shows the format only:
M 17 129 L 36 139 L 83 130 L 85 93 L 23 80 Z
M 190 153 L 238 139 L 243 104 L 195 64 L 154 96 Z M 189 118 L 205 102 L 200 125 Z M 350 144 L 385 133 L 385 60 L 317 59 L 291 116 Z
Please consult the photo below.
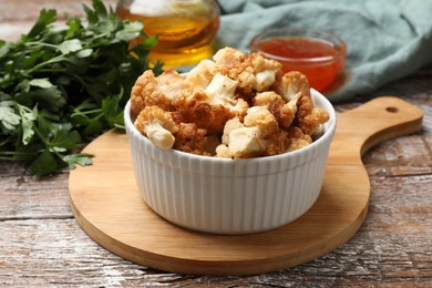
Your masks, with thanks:
M 310 85 L 318 91 L 329 88 L 344 64 L 341 48 L 317 39 L 275 38 L 260 42 L 257 49 L 268 58 L 279 61 L 284 72 L 295 70 L 304 73 Z M 331 59 L 313 62 L 307 60 L 326 56 Z

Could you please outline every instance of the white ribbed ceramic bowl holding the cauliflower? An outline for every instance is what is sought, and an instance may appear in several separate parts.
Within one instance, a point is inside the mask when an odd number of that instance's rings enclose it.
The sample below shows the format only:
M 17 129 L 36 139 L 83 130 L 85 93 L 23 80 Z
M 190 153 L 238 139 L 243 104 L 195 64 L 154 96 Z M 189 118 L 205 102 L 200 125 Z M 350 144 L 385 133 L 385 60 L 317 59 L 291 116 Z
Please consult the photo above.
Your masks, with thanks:
M 160 150 L 135 128 L 127 103 L 125 127 L 144 202 L 171 223 L 215 234 L 265 232 L 300 217 L 318 198 L 336 128 L 330 102 L 311 94 L 330 114 L 323 135 L 298 151 L 248 160 Z

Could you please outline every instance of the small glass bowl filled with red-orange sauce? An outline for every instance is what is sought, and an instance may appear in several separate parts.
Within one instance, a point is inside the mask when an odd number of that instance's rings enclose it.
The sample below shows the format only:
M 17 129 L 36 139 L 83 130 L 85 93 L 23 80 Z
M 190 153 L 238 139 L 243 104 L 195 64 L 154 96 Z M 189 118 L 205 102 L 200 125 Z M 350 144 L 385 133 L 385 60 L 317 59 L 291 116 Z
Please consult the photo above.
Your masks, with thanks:
M 329 32 L 281 28 L 256 35 L 250 50 L 280 62 L 285 73 L 300 71 L 311 88 L 323 92 L 344 65 L 347 44 Z

